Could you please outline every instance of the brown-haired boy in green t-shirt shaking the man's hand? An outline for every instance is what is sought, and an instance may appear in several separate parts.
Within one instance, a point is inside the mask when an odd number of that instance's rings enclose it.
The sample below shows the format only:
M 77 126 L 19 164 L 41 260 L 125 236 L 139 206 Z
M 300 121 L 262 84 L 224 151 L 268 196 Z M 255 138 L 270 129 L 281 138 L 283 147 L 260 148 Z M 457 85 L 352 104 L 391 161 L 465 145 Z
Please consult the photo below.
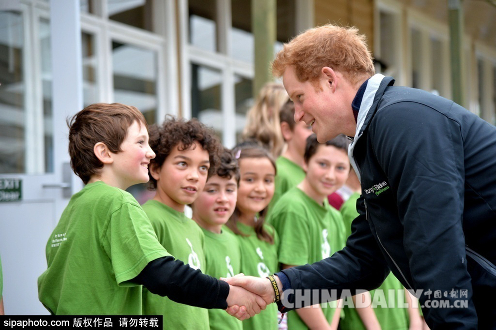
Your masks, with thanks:
M 131 185 L 148 182 L 155 153 L 135 107 L 93 104 L 68 120 L 69 154 L 86 186 L 74 194 L 50 236 L 39 299 L 51 314 L 141 315 L 142 286 L 204 308 L 264 306 L 255 296 L 175 260 L 158 242 Z M 201 288 L 201 289 L 198 289 Z M 245 318 L 244 308 L 229 308 Z

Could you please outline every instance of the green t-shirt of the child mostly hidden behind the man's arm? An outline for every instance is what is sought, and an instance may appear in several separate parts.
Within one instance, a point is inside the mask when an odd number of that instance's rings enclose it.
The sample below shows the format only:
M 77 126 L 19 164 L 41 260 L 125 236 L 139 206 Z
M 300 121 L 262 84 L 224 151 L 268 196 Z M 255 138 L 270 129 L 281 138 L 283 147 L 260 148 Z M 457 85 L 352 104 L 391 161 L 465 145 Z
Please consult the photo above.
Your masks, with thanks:
M 351 223 L 358 216 L 356 209 L 357 199 L 360 197 L 358 193 L 354 193 L 350 198 L 341 206 L 341 214 L 346 226 L 347 235 L 351 234 Z M 382 291 L 379 291 L 382 290 Z M 398 304 L 398 291 L 404 290 L 400 281 L 390 273 L 384 283 L 376 289 L 370 291 L 372 295 L 372 308 L 381 328 L 383 330 L 407 330 L 409 326 L 409 316 L 407 308 L 383 308 L 382 306 L 389 306 L 389 290 L 394 290 L 394 300 L 391 303 Z M 375 297 L 376 294 L 381 294 L 380 297 Z M 406 294 L 406 292 L 405 292 Z M 374 303 L 376 302 L 376 303 Z M 342 330 L 365 330 L 365 326 L 358 315 L 356 309 L 344 308 L 345 318 L 340 323 Z

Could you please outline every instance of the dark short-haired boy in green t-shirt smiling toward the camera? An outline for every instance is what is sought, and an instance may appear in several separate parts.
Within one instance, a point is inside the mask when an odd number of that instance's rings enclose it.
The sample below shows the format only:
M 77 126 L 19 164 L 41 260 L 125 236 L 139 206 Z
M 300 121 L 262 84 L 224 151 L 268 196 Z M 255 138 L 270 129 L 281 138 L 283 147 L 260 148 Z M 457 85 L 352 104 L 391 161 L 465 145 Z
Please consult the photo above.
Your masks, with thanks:
M 282 269 L 314 263 L 330 257 L 345 245 L 345 228 L 339 211 L 327 196 L 341 187 L 350 170 L 348 139 L 340 135 L 320 144 L 315 134 L 307 138 L 304 180 L 288 190 L 274 205 L 269 223 L 281 244 Z M 318 305 L 288 314 L 288 329 L 332 328 L 339 323 L 341 308 Z

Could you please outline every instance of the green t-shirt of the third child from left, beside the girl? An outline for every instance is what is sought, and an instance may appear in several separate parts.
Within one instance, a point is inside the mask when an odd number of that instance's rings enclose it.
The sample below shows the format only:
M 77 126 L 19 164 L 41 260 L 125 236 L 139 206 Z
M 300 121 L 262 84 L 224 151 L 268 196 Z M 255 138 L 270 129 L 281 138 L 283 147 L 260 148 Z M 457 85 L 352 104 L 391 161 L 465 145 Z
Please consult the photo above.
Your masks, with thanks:
M 241 272 L 241 248 L 236 236 L 222 230 L 220 234 L 203 229 L 205 234 L 205 274 L 215 278 L 233 277 Z M 241 330 L 243 323 L 225 310 L 209 309 L 210 329 Z

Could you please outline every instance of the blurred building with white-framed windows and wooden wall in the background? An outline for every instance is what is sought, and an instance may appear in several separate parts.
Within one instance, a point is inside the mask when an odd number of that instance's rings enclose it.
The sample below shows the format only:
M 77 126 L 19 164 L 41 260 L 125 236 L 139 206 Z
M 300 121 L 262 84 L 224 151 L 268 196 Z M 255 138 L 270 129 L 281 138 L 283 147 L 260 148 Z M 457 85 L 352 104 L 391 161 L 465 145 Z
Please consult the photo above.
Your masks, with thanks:
M 367 36 L 377 71 L 396 85 L 462 100 L 495 124 L 496 5 L 458 2 L 462 64 L 452 77 L 453 0 L 0 0 L 6 313 L 46 313 L 36 285 L 45 244 L 82 187 L 68 167 L 68 116 L 121 102 L 150 124 L 196 117 L 232 147 L 254 93 L 271 79 L 273 54 L 300 31 L 337 23 Z M 454 81 L 462 95 L 453 95 Z

